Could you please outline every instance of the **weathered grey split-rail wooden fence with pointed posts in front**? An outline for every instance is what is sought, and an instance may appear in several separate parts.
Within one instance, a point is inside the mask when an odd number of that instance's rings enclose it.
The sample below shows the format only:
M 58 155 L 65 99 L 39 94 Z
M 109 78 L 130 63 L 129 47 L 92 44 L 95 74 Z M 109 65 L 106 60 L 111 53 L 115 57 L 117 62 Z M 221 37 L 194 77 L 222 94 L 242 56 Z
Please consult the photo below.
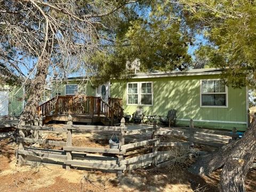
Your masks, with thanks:
M 39 123 L 42 124 L 42 123 Z M 56 164 L 66 167 L 83 167 L 91 170 L 105 170 L 116 172 L 122 175 L 125 170 L 133 170 L 139 167 L 158 165 L 170 157 L 170 150 L 167 146 L 185 146 L 191 145 L 190 141 L 184 142 L 161 142 L 161 131 L 154 125 L 139 130 L 127 130 L 124 118 L 121 125 L 116 126 L 93 126 L 93 125 L 73 125 L 71 116 L 67 125 L 62 128 L 47 126 L 30 126 L 19 125 L 19 137 L 17 138 L 18 150 L 17 158 L 19 164 L 39 165 L 39 164 Z M 25 138 L 25 130 L 34 132 L 34 138 Z M 38 132 L 66 133 L 66 141 L 55 141 L 49 139 L 39 139 Z M 92 148 L 77 147 L 72 145 L 72 135 L 74 131 L 82 132 L 109 132 L 119 133 L 118 149 L 110 148 Z M 148 133 L 151 138 L 139 142 L 125 143 L 126 136 Z M 166 132 L 163 132 L 166 134 Z M 25 143 L 37 143 L 39 145 L 59 146 L 62 149 L 36 148 L 25 146 Z M 160 149 L 160 150 L 159 150 Z

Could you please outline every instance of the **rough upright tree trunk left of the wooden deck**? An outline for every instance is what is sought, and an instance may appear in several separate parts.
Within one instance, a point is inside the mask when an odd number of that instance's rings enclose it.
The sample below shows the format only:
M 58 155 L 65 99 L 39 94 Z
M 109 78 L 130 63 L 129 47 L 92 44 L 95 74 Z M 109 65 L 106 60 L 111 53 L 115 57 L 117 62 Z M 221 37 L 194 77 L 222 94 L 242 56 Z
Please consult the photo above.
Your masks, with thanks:
M 44 91 L 49 65 L 50 61 L 46 57 L 42 57 L 38 62 L 35 78 L 30 80 L 29 85 L 27 85 L 29 87 L 27 91 L 28 100 L 20 117 L 20 124 L 34 124 L 38 103 Z

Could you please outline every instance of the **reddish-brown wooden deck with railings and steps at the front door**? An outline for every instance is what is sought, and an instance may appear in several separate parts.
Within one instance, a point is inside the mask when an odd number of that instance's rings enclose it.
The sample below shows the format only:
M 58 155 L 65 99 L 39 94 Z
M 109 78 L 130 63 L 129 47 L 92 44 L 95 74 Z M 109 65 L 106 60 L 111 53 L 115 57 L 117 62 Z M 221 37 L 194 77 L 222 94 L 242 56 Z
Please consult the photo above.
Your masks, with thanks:
M 109 98 L 108 103 L 100 97 L 57 96 L 38 106 L 38 115 L 43 124 L 50 121 L 103 123 L 114 125 L 123 117 L 122 99 Z

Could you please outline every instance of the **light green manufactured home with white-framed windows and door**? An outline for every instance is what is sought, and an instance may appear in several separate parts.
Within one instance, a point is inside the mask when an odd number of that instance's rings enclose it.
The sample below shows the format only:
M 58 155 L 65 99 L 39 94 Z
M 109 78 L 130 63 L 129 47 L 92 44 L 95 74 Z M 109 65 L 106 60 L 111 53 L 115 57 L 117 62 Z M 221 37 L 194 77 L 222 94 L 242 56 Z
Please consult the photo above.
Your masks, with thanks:
M 226 86 L 220 69 L 137 73 L 125 81 L 111 79 L 97 88 L 89 81 L 81 84 L 79 78 L 71 78 L 53 87 L 53 97 L 79 92 L 102 99 L 121 98 L 124 112 L 130 115 L 137 108 L 143 108 L 145 115 L 167 115 L 168 110 L 176 109 L 178 126 L 187 126 L 193 119 L 198 127 L 236 127 L 239 131 L 247 127 L 247 88 Z

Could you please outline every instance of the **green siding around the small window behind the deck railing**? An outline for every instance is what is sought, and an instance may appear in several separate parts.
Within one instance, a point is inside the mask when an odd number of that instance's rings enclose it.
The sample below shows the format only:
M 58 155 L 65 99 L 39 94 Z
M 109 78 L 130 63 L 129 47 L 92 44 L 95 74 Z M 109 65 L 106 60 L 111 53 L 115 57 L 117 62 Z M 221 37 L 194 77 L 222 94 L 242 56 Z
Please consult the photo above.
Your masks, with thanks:
M 61 95 L 65 95 L 66 85 L 68 84 L 77 84 L 78 85 L 78 92 L 84 93 L 89 96 L 95 96 L 95 89 L 92 87 L 90 82 L 79 82 L 73 81 L 68 83 L 53 83 L 52 86 L 52 96 L 55 97 L 56 93 L 60 93 Z

